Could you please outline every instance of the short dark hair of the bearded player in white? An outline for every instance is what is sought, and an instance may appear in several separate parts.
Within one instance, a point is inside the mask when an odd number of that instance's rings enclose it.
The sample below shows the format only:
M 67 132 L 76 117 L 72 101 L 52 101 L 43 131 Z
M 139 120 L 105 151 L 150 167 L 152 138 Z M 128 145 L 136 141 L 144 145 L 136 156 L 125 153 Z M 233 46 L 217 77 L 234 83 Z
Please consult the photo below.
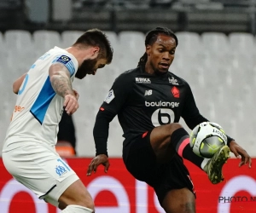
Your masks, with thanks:
M 73 46 L 79 45 L 85 47 L 99 47 L 100 52 L 98 58 L 106 58 L 107 64 L 110 64 L 113 59 L 113 49 L 108 41 L 108 37 L 99 29 L 95 28 L 84 32 L 84 34 L 73 44 Z

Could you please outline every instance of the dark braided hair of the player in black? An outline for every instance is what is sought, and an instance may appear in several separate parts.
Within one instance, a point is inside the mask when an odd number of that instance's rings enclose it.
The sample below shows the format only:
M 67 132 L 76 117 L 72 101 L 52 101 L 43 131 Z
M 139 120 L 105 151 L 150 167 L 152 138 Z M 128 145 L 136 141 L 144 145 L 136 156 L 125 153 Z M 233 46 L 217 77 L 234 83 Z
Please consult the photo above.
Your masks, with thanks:
M 148 44 L 152 45 L 156 41 L 159 34 L 165 34 L 166 36 L 173 37 L 175 39 L 176 47 L 177 47 L 176 35 L 174 34 L 174 32 L 172 32 L 170 29 L 166 27 L 156 27 L 153 30 L 149 31 L 145 39 L 145 46 L 147 46 Z M 145 66 L 147 60 L 148 60 L 148 55 L 145 52 L 144 55 L 140 58 L 137 66 Z

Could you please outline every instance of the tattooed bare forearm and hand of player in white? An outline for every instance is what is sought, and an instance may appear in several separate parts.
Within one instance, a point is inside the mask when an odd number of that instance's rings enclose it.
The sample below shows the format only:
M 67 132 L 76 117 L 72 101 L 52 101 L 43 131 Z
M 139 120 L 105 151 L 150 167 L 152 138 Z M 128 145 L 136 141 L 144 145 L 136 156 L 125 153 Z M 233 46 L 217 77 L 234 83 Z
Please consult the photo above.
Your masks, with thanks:
M 55 93 L 64 97 L 63 106 L 67 114 L 71 115 L 76 112 L 79 108 L 79 103 L 73 91 L 67 67 L 61 63 L 49 66 L 49 80 Z

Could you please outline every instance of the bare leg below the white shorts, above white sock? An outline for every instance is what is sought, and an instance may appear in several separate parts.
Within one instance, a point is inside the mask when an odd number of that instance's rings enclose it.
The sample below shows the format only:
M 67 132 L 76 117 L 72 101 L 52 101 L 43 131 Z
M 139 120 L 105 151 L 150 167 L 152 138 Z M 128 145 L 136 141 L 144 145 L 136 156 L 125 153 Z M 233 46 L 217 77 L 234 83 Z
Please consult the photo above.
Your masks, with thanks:
M 90 209 L 94 209 L 94 202 L 90 193 L 84 187 L 83 182 L 79 179 L 74 181 L 67 189 L 61 194 L 59 198 L 59 207 L 66 208 L 69 204 L 77 204 Z

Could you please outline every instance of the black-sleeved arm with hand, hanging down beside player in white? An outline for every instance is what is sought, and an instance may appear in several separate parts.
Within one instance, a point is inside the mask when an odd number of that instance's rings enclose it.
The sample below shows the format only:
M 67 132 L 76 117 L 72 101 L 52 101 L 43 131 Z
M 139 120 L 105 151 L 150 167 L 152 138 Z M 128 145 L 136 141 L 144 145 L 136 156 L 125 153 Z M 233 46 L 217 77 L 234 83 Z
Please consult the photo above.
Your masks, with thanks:
M 90 162 L 87 170 L 87 176 L 91 175 L 91 172 L 96 172 L 97 167 L 102 164 L 105 166 L 105 172 L 108 171 L 108 129 L 109 123 L 117 115 L 120 109 L 125 108 L 125 101 L 129 97 L 132 91 L 132 81 L 134 78 L 129 78 L 126 75 L 127 72 L 121 74 L 113 83 L 112 88 L 108 91 L 108 95 L 102 104 L 99 112 L 96 116 L 96 123 L 93 130 L 94 141 L 96 145 L 96 158 L 93 158 Z

